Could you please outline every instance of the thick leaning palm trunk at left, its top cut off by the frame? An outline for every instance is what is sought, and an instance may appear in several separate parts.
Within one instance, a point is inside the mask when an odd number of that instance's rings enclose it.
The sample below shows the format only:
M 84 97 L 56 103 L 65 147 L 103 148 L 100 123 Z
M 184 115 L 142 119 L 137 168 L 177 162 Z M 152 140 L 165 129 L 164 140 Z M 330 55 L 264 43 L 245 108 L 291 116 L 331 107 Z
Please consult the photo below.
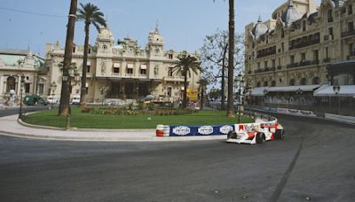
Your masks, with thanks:
M 69 66 L 72 63 L 76 8 L 77 8 L 77 0 L 71 0 L 69 19 L 67 22 L 67 39 L 66 39 L 66 49 L 64 52 L 63 75 L 69 74 Z M 59 112 L 58 112 L 59 116 L 67 116 L 67 113 L 69 112 L 70 89 L 71 89 L 70 81 L 69 80 L 62 81 L 61 91 L 60 91 L 60 105 L 59 105 Z

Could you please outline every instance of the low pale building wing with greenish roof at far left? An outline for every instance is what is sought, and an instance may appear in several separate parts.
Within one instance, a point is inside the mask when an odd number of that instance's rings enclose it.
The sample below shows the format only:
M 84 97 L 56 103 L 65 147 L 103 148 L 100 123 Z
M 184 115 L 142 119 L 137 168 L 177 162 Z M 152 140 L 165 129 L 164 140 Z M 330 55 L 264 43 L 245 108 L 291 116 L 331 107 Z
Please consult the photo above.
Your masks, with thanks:
M 44 59 L 28 50 L 0 50 L 0 104 L 5 104 L 14 92 L 20 98 L 23 77 L 23 96 L 47 95 L 47 69 Z

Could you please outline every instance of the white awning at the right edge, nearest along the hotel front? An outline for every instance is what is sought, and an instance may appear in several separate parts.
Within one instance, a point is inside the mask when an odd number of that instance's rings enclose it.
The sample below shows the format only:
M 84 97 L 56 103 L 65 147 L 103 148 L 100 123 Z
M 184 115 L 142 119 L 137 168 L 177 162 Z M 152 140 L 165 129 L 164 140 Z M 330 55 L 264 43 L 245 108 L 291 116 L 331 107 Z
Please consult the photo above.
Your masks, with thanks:
M 355 85 L 340 86 L 338 94 L 335 94 L 333 86 L 324 85 L 314 91 L 317 97 L 355 97 Z

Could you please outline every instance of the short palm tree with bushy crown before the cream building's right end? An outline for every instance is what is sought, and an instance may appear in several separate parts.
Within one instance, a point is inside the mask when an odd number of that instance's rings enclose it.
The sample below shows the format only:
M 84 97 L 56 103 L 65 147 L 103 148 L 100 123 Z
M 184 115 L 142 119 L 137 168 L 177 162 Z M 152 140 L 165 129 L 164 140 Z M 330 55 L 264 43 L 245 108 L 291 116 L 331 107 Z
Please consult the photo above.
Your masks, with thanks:
M 201 70 L 201 62 L 198 61 L 197 58 L 187 54 L 184 51 L 177 57 L 177 64 L 173 67 L 173 73 L 178 74 L 181 73 L 184 76 L 184 100 L 183 100 L 183 107 L 186 108 L 187 105 L 187 74 L 191 76 L 191 71 L 194 74 L 198 74 L 198 71 Z

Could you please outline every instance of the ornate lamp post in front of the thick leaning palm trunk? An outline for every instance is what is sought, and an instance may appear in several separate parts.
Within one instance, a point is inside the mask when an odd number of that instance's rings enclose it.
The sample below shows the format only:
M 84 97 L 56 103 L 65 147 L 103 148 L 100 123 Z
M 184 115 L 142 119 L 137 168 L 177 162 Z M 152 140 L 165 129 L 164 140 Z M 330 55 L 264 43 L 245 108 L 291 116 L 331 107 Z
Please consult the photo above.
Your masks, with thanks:
M 68 82 L 68 84 L 69 84 L 69 95 L 70 95 L 72 93 L 72 87 L 75 86 L 77 84 L 77 82 L 80 81 L 80 75 L 77 73 L 77 69 L 76 69 L 75 63 L 72 63 L 69 66 L 67 75 L 63 74 L 63 81 Z M 67 105 L 68 105 L 68 112 L 67 112 L 66 129 L 70 129 L 72 110 L 70 108 L 69 103 Z

